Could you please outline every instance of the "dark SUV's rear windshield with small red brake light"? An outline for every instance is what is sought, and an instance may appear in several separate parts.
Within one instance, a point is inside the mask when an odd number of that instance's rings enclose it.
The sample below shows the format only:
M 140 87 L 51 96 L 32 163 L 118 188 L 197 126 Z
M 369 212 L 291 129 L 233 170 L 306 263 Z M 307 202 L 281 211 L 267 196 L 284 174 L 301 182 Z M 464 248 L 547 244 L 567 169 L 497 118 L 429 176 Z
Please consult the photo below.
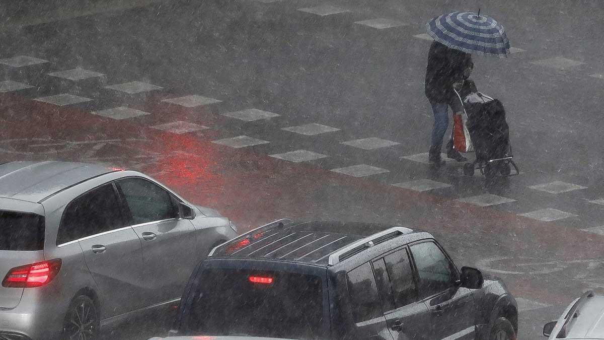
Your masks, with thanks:
M 288 272 L 206 269 L 188 332 L 317 339 L 323 335 L 321 278 Z

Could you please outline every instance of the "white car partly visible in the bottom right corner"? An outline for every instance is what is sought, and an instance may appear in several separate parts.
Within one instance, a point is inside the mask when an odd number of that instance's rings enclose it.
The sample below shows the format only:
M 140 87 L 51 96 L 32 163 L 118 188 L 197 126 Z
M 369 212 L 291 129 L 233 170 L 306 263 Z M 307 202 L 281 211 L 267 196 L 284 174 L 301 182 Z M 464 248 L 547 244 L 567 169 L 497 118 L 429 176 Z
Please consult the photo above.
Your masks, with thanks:
M 589 290 L 575 299 L 557 321 L 544 325 L 543 335 L 554 339 L 604 339 L 604 296 Z

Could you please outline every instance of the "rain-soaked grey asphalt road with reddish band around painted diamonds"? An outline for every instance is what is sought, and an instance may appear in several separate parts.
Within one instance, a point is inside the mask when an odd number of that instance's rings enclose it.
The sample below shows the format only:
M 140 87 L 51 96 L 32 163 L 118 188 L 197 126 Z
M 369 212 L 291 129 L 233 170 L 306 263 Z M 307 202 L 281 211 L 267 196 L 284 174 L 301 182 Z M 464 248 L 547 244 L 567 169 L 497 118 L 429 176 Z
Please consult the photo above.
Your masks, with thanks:
M 481 2 L 482 13 L 503 22 L 512 46 L 522 49 L 508 59 L 474 59 L 472 77 L 480 90 L 498 97 L 506 106 L 514 155 L 522 171 L 517 177 L 486 183 L 480 176 L 463 176 L 458 165 L 434 171 L 423 163 L 401 158 L 413 158 L 428 150 L 432 124 L 423 96 L 429 41 L 416 35 L 424 33 L 423 23 L 432 16 L 449 10 L 472 10 L 477 4 L 333 1 L 329 4 L 349 11 L 316 16 L 298 10 L 320 4 L 323 2 L 315 0 L 172 1 L 7 29 L 2 32 L 1 57 L 22 54 L 50 61 L 37 68 L 3 66 L 4 79 L 0 80 L 34 86 L 18 91 L 18 96 L 33 99 L 66 92 L 94 99 L 72 105 L 73 110 L 88 113 L 124 105 L 153 114 L 115 120 L 110 128 L 82 119 L 73 123 L 79 127 L 74 132 L 62 130 L 61 123 L 75 119 L 68 116 L 71 111 L 48 107 L 39 112 L 19 111 L 21 106 L 5 99 L 4 107 L 14 110 L 4 111 L 5 122 L 37 123 L 28 126 L 27 133 L 4 131 L 2 157 L 66 158 L 138 167 L 187 191 L 185 196 L 193 197 L 196 203 L 233 217 L 244 228 L 295 215 L 404 222 L 431 230 L 447 244 L 459 265 L 472 264 L 503 276 L 524 308 L 519 338 L 540 338 L 542 324 L 557 317 L 565 303 L 585 289 L 604 285 L 598 255 L 601 237 L 597 234 L 602 233 L 600 226 L 604 224 L 604 206 L 598 204 L 604 197 L 599 148 L 604 79 L 598 76 L 604 74 L 600 61 L 604 26 L 594 24 L 604 14 L 604 7 L 596 1 L 581 5 L 534 1 L 530 8 Z M 378 30 L 355 24 L 376 18 L 405 25 Z M 549 60 L 551 57 L 564 59 Z M 71 82 L 46 75 L 75 67 L 104 76 Z M 103 88 L 132 80 L 162 89 L 132 95 Z M 150 104 L 158 98 L 187 94 L 222 102 L 176 112 Z M 279 116 L 252 122 L 222 116 L 249 108 Z M 27 114 L 37 120 L 40 115 L 48 116 L 41 124 Z M 141 132 L 147 126 L 177 119 L 210 128 L 172 141 L 170 145 L 188 152 L 186 156 L 175 156 L 170 153 L 173 150 L 161 147 L 168 137 L 149 137 Z M 305 136 L 282 129 L 308 123 L 338 130 Z M 132 126 L 141 126 L 141 131 Z M 117 146 L 113 142 L 91 143 L 103 145 L 83 151 L 68 143 L 65 148 L 32 146 L 44 144 L 34 138 L 111 140 L 112 134 L 120 135 L 117 138 L 122 141 L 124 136 L 150 139 L 152 145 L 144 149 L 155 153 L 141 152 L 138 146 L 130 148 L 130 142 Z M 237 154 L 236 160 L 215 143 L 204 143 L 203 149 L 185 147 L 192 143 L 189 139 L 211 141 L 242 135 L 269 143 L 242 148 L 245 151 Z M 384 146 L 379 148 L 342 144 L 366 138 L 392 143 L 380 141 Z M 297 149 L 329 157 L 288 165 L 267 165 L 268 161 L 257 158 Z M 193 167 L 196 171 L 173 171 L 182 157 L 202 152 L 208 157 Z M 137 156 L 141 158 L 132 162 Z M 207 162 L 220 171 L 205 173 Z M 334 183 L 324 174 L 359 164 L 388 172 L 378 170 L 380 173 L 360 177 L 362 185 Z M 313 177 L 315 169 L 324 172 Z M 191 178 L 201 175 L 207 178 L 196 183 L 208 186 L 191 186 Z M 310 183 L 309 177 L 316 183 Z M 304 184 L 297 183 L 298 178 Z M 431 198 L 420 200 L 421 204 L 401 203 L 417 197 L 399 196 L 391 186 L 426 179 L 443 187 L 426 192 Z M 530 188 L 552 181 L 575 186 L 544 187 L 553 192 Z M 248 202 L 233 194 L 243 186 L 258 191 L 245 190 L 242 196 Z M 476 198 L 485 194 L 498 197 Z M 458 198 L 479 206 L 460 208 L 454 203 Z M 489 206 L 480 207 L 484 205 Z M 516 214 L 541 209 L 570 215 L 550 222 L 516 218 Z M 140 330 L 147 327 L 132 322 L 121 337 L 144 339 L 150 334 L 140 334 Z

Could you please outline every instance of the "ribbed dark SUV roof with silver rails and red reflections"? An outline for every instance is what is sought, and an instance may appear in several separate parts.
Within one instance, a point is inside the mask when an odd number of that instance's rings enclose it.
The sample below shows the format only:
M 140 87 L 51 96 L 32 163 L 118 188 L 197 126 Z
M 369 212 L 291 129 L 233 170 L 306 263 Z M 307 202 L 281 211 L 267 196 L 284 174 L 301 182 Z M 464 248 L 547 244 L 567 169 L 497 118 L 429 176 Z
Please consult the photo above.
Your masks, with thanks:
M 283 219 L 223 243 L 208 256 L 334 266 L 368 247 L 420 231 L 384 224 Z

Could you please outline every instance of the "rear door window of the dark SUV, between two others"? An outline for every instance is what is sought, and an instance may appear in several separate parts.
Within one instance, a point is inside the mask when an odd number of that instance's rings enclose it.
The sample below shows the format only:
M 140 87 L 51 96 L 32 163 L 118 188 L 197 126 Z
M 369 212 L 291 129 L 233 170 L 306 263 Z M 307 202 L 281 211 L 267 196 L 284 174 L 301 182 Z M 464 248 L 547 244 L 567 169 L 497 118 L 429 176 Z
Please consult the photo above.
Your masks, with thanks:
M 417 287 L 406 248 L 384 257 L 396 307 L 407 306 L 417 301 Z

